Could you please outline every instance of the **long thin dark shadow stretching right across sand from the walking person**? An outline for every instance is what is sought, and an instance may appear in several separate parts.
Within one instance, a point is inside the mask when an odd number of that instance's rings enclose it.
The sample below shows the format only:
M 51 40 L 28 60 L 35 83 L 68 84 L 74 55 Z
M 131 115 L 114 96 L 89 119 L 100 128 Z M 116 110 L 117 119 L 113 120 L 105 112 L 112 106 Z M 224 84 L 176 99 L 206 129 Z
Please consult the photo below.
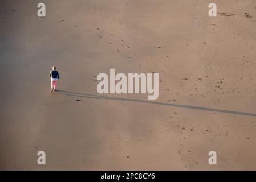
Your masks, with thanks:
M 247 116 L 254 116 L 254 117 L 256 117 L 256 114 L 254 114 L 254 113 L 244 113 L 244 112 L 239 112 L 239 111 L 212 109 L 212 108 L 208 108 L 208 107 L 190 106 L 190 105 L 182 105 L 182 104 L 168 104 L 168 103 L 164 103 L 164 102 L 135 100 L 135 99 L 131 99 L 131 98 L 119 98 L 119 97 L 110 97 L 110 96 L 100 96 L 100 95 L 95 95 L 95 94 L 68 92 L 68 91 L 64 91 L 64 90 L 58 90 L 57 93 L 63 94 L 63 95 L 66 95 L 66 96 L 94 98 L 94 99 L 105 99 L 105 100 L 144 102 L 144 103 L 148 103 L 148 104 L 157 104 L 157 105 L 165 105 L 165 106 L 173 106 L 173 107 L 182 107 L 182 108 L 186 108 L 186 109 L 197 109 L 197 110 L 204 110 L 204 111 L 212 111 L 212 112 L 216 112 L 216 113 L 228 113 L 228 114 L 238 114 L 238 115 L 247 115 Z

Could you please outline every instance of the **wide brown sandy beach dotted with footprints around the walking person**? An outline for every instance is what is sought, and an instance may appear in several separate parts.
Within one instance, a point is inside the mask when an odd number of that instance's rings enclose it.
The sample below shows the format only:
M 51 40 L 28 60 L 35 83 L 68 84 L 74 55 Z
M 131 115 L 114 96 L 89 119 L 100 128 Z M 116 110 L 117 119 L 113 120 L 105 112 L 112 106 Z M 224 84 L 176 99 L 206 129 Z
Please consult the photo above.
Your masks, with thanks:
M 0 169 L 256 169 L 254 0 L 43 2 L 0 2 Z M 110 68 L 159 98 L 98 94 Z

